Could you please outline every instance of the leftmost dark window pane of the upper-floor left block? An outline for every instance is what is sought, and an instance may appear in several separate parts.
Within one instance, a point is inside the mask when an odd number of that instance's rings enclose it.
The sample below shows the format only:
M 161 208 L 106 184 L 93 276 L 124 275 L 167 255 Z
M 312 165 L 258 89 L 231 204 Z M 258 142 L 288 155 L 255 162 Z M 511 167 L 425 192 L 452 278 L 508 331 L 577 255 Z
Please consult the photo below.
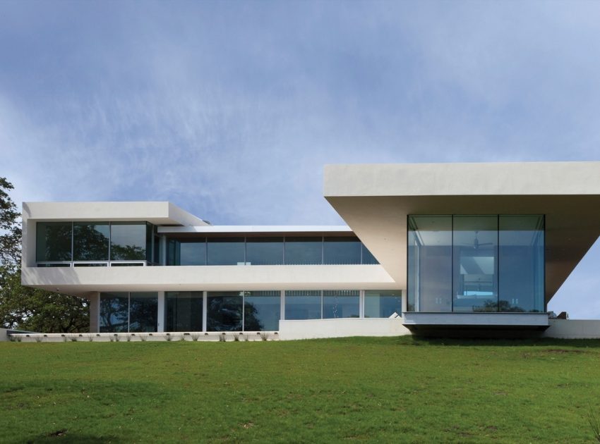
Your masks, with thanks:
M 36 260 L 71 261 L 72 229 L 71 222 L 38 222 Z

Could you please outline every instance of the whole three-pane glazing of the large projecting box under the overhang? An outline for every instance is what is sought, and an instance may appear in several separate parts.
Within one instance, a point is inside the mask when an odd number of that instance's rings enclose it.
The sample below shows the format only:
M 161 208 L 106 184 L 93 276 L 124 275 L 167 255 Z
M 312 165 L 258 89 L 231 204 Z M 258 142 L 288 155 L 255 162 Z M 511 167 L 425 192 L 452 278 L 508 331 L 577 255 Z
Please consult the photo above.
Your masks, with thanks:
M 409 216 L 407 309 L 544 311 L 544 216 Z

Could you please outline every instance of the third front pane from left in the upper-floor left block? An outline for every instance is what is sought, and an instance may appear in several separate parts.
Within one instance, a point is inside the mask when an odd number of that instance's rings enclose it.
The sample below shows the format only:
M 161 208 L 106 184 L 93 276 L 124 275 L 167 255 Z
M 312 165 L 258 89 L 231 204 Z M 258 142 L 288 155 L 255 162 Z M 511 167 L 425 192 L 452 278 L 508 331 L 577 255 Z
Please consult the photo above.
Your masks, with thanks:
M 113 222 L 110 227 L 110 259 L 143 261 L 146 259 L 146 224 Z

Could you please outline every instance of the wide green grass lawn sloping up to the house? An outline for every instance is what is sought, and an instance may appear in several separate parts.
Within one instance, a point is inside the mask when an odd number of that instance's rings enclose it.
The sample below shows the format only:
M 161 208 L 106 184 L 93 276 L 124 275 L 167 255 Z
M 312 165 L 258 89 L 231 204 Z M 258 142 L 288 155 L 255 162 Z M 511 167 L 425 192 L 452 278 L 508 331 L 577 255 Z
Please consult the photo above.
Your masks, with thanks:
M 600 341 L 0 343 L 0 442 L 594 442 Z

